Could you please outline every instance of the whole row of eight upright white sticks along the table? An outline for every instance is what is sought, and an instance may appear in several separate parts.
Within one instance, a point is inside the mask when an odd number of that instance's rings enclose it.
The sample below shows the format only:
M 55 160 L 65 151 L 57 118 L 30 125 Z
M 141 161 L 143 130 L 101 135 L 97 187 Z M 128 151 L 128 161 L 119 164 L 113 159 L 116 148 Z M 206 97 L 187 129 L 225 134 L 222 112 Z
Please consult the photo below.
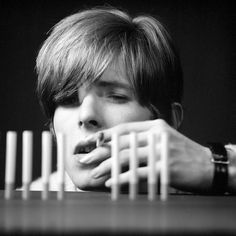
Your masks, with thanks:
M 97 142 L 99 145 L 99 140 Z M 65 181 L 65 156 L 69 155 L 66 151 L 66 137 L 63 134 L 57 136 L 57 176 L 58 176 L 58 192 L 57 198 L 64 198 L 64 181 Z M 157 161 L 155 153 L 155 135 L 150 132 L 148 135 L 148 199 L 155 200 L 157 195 Z M 17 133 L 8 131 L 6 136 L 6 172 L 5 172 L 5 199 L 11 199 L 14 193 L 15 185 L 15 168 L 16 168 L 16 148 Z M 114 133 L 111 142 L 112 154 L 112 186 L 111 199 L 119 199 L 120 193 L 120 160 L 119 160 L 119 135 Z M 27 200 L 30 198 L 30 184 L 32 182 L 32 158 L 33 158 L 33 132 L 23 131 L 22 133 L 22 198 Z M 130 133 L 130 158 L 129 158 L 129 198 L 136 199 L 138 192 L 138 158 L 137 158 L 137 134 Z M 42 132 L 42 199 L 48 199 L 49 194 L 49 176 L 51 174 L 52 162 L 52 136 L 49 131 Z M 160 198 L 167 200 L 168 198 L 168 134 L 163 133 L 161 136 L 161 152 L 160 152 Z

